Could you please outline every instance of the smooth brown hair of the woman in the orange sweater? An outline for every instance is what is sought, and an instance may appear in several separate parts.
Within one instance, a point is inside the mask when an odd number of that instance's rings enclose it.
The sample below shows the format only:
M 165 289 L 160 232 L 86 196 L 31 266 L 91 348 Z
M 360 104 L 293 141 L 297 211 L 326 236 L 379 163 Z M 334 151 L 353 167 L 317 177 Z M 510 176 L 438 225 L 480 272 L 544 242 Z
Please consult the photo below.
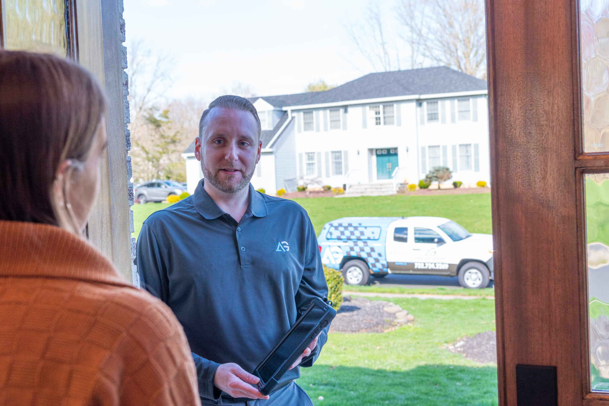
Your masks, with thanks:
M 59 225 L 52 187 L 61 162 L 83 162 L 105 98 L 82 67 L 0 51 L 0 220 Z

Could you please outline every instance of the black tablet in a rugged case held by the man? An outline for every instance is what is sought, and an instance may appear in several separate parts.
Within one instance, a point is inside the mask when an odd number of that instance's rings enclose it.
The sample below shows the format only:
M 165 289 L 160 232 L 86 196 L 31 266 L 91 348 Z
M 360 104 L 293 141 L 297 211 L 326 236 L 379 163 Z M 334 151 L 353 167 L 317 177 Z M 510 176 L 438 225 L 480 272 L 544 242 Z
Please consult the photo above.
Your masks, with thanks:
M 260 378 L 258 390 L 269 394 L 288 368 L 300 357 L 317 334 L 336 316 L 332 302 L 314 298 L 294 326 L 286 332 L 269 355 L 256 366 L 254 374 Z

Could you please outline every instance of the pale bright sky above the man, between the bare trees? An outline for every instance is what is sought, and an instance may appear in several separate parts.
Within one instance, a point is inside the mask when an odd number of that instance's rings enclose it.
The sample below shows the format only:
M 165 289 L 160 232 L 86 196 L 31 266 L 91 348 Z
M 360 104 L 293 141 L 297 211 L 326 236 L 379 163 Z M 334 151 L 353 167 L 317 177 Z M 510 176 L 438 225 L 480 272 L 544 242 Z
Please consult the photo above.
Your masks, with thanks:
M 345 25 L 367 0 L 124 0 L 127 52 L 143 39 L 175 57 L 168 97 L 209 98 L 236 83 L 258 95 L 342 84 L 373 71 Z

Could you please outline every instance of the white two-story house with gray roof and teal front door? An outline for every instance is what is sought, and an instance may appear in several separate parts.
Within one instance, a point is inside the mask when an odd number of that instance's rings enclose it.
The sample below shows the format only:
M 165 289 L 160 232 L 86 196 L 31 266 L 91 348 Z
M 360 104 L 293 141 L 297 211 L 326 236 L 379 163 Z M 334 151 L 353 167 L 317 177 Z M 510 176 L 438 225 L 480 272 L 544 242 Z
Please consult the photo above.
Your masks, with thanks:
M 433 167 L 490 181 L 487 83 L 448 67 L 365 75 L 325 92 L 254 97 L 262 124 L 255 188 L 418 183 Z M 194 142 L 188 189 L 202 177 Z

